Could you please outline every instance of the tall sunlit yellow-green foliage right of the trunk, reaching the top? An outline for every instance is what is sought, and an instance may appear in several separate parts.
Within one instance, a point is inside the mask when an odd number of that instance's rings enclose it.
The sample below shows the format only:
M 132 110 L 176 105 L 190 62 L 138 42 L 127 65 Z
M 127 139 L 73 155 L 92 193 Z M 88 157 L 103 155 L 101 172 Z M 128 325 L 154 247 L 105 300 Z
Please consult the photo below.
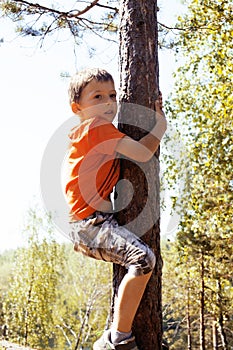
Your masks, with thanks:
M 206 348 L 212 348 L 211 327 L 216 321 L 219 344 L 228 349 L 233 344 L 229 331 L 233 317 L 229 272 L 233 265 L 233 66 L 229 40 L 233 7 L 224 0 L 188 3 L 189 11 L 180 18 L 179 26 L 185 28 L 190 23 L 195 30 L 180 33 L 180 67 L 168 105 L 169 117 L 183 144 L 178 161 L 175 157 L 169 160 L 167 172 L 181 215 L 175 266 L 183 287 L 181 284 L 172 298 L 183 298 L 187 308 L 183 292 L 189 289 L 193 346 L 199 344 L 202 321 L 197 315 L 202 312 Z M 199 298 L 202 289 L 203 305 Z M 187 321 L 187 314 L 183 315 Z M 185 334 L 187 337 L 188 329 Z M 180 335 L 179 342 L 181 339 Z M 174 343 L 171 349 L 177 346 Z

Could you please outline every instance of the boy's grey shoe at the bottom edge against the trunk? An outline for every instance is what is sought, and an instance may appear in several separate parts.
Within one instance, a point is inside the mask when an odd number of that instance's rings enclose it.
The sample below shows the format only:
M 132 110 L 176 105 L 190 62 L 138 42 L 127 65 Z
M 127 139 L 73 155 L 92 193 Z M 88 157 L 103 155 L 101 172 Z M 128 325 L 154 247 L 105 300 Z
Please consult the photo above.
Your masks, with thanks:
M 117 345 L 113 345 L 111 342 L 111 330 L 107 330 L 98 339 L 94 345 L 93 350 L 139 350 L 135 343 L 134 336 L 121 341 Z

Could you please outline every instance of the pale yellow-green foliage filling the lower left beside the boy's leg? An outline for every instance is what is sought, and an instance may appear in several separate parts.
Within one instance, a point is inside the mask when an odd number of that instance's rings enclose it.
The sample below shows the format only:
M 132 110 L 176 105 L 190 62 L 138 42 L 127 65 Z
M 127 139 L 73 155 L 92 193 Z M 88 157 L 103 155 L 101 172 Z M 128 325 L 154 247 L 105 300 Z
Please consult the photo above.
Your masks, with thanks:
M 11 341 L 38 349 L 92 348 L 105 327 L 111 265 L 54 239 L 51 219 L 29 210 L 28 245 L 0 256 L 1 325 Z

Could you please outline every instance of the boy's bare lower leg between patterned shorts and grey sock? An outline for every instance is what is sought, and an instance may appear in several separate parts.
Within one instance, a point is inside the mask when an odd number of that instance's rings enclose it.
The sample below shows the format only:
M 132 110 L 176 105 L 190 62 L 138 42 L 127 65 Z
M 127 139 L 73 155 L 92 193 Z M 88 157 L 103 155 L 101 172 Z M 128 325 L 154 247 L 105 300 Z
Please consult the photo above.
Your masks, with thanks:
M 133 276 L 126 274 L 121 281 L 114 308 L 113 328 L 120 332 L 130 332 L 132 323 L 152 272 Z

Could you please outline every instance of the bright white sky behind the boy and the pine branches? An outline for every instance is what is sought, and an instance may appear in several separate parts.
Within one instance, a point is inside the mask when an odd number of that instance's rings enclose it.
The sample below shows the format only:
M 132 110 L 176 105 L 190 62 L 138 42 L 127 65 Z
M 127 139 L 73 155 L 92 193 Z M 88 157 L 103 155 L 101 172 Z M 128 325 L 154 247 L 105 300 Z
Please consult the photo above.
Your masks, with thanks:
M 179 0 L 164 0 L 159 20 L 174 22 L 182 11 Z M 19 37 L 9 20 L 1 19 L 0 33 L 0 253 L 23 244 L 22 230 L 27 211 L 41 203 L 40 167 L 44 150 L 54 132 L 72 116 L 68 103 L 71 75 L 87 67 L 102 67 L 117 81 L 117 44 L 89 37 L 77 48 L 68 37 L 54 43 L 48 39 L 42 48 L 38 39 Z M 1 39 L 1 38 L 0 38 Z M 59 41 L 60 40 L 60 41 Z M 93 57 L 89 46 L 95 46 Z M 163 96 L 172 88 L 175 61 L 172 52 L 159 54 L 160 85 Z M 162 234 L 169 235 L 163 225 Z M 58 233 L 59 239 L 59 233 Z

